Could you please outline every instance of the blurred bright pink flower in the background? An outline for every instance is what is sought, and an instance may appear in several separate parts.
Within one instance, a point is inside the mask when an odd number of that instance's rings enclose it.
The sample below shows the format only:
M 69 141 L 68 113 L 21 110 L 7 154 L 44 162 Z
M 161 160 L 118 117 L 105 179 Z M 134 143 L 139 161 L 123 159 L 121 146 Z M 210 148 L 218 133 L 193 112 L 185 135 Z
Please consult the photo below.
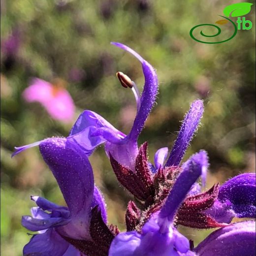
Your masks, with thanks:
M 60 78 L 52 83 L 33 78 L 31 85 L 23 92 L 23 97 L 27 102 L 41 103 L 52 118 L 67 123 L 73 119 L 75 104 L 65 90 L 65 84 Z

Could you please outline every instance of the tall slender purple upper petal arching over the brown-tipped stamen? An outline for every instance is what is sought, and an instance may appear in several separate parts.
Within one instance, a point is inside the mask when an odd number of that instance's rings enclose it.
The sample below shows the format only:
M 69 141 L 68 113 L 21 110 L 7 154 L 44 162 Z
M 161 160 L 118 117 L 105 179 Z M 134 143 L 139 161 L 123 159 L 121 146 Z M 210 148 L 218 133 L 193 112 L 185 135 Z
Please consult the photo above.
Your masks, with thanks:
M 156 101 L 156 96 L 158 93 L 157 73 L 151 64 L 145 61 L 138 53 L 136 53 L 128 46 L 117 42 L 112 42 L 111 44 L 125 51 L 128 51 L 134 57 L 136 57 L 142 64 L 142 69 L 145 77 L 145 84 L 141 95 L 141 105 L 135 117 L 131 131 L 128 135 L 129 140 L 133 141 L 134 143 L 137 143 L 137 138 L 141 130 L 143 129 L 146 119 Z

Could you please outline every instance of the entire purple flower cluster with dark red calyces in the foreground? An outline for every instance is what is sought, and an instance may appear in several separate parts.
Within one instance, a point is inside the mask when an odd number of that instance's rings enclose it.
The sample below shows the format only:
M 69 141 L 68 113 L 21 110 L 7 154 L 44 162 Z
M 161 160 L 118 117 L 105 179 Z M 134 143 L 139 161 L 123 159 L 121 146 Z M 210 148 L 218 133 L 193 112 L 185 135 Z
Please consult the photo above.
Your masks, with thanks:
M 255 255 L 255 222 L 230 224 L 233 217 L 255 218 L 255 173 L 238 175 L 222 186 L 202 192 L 209 166 L 203 150 L 181 163 L 203 113 L 203 102 L 195 100 L 184 118 L 168 156 L 168 149 L 149 162 L 147 142 L 137 138 L 157 95 L 155 69 L 129 47 L 114 45 L 133 54 L 145 76 L 140 96 L 135 83 L 118 72 L 121 84 L 130 88 L 137 114 L 128 135 L 114 128 L 95 112 L 85 110 L 66 138 L 50 138 L 16 148 L 13 155 L 39 145 L 43 159 L 53 172 L 67 207 L 41 197 L 32 197 L 38 208 L 23 225 L 41 233 L 32 237 L 24 254 L 82 256 L 251 256 Z M 106 224 L 102 196 L 94 186 L 88 157 L 104 143 L 112 168 L 121 185 L 134 199 L 128 202 L 126 232 Z M 167 161 L 165 162 L 165 159 Z M 197 229 L 219 227 L 196 248 L 178 230 L 178 225 Z M 45 229 L 47 229 L 45 231 Z M 41 238 L 42 239 L 41 239 Z M 60 248 L 60 249 L 57 249 Z M 237 249 L 236 249 L 237 248 Z M 62 251 L 60 251 L 62 250 Z M 67 254 L 67 250 L 72 253 Z

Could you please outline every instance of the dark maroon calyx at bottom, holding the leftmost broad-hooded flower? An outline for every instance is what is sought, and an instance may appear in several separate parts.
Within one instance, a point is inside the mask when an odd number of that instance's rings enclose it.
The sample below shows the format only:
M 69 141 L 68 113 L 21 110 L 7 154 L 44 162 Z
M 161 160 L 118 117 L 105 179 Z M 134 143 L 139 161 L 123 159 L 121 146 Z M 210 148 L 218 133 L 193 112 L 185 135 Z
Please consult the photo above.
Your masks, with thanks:
M 92 219 L 90 223 L 90 235 L 92 240 L 76 240 L 68 237 L 64 239 L 72 244 L 84 256 L 108 256 L 110 244 L 119 233 L 117 226 L 104 223 L 98 206 L 92 209 Z

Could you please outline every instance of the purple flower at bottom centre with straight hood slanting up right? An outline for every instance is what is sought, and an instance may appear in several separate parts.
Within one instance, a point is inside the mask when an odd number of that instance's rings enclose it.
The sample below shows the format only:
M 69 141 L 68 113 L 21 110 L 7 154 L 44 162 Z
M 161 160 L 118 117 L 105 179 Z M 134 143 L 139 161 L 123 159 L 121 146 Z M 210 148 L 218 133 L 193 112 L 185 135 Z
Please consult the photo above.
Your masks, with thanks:
M 117 235 L 110 247 L 109 256 L 179 256 L 192 255 L 189 240 L 173 226 L 177 210 L 201 175 L 207 156 L 200 152 L 183 166 L 160 212 L 153 214 L 144 224 L 141 233 L 129 231 Z

